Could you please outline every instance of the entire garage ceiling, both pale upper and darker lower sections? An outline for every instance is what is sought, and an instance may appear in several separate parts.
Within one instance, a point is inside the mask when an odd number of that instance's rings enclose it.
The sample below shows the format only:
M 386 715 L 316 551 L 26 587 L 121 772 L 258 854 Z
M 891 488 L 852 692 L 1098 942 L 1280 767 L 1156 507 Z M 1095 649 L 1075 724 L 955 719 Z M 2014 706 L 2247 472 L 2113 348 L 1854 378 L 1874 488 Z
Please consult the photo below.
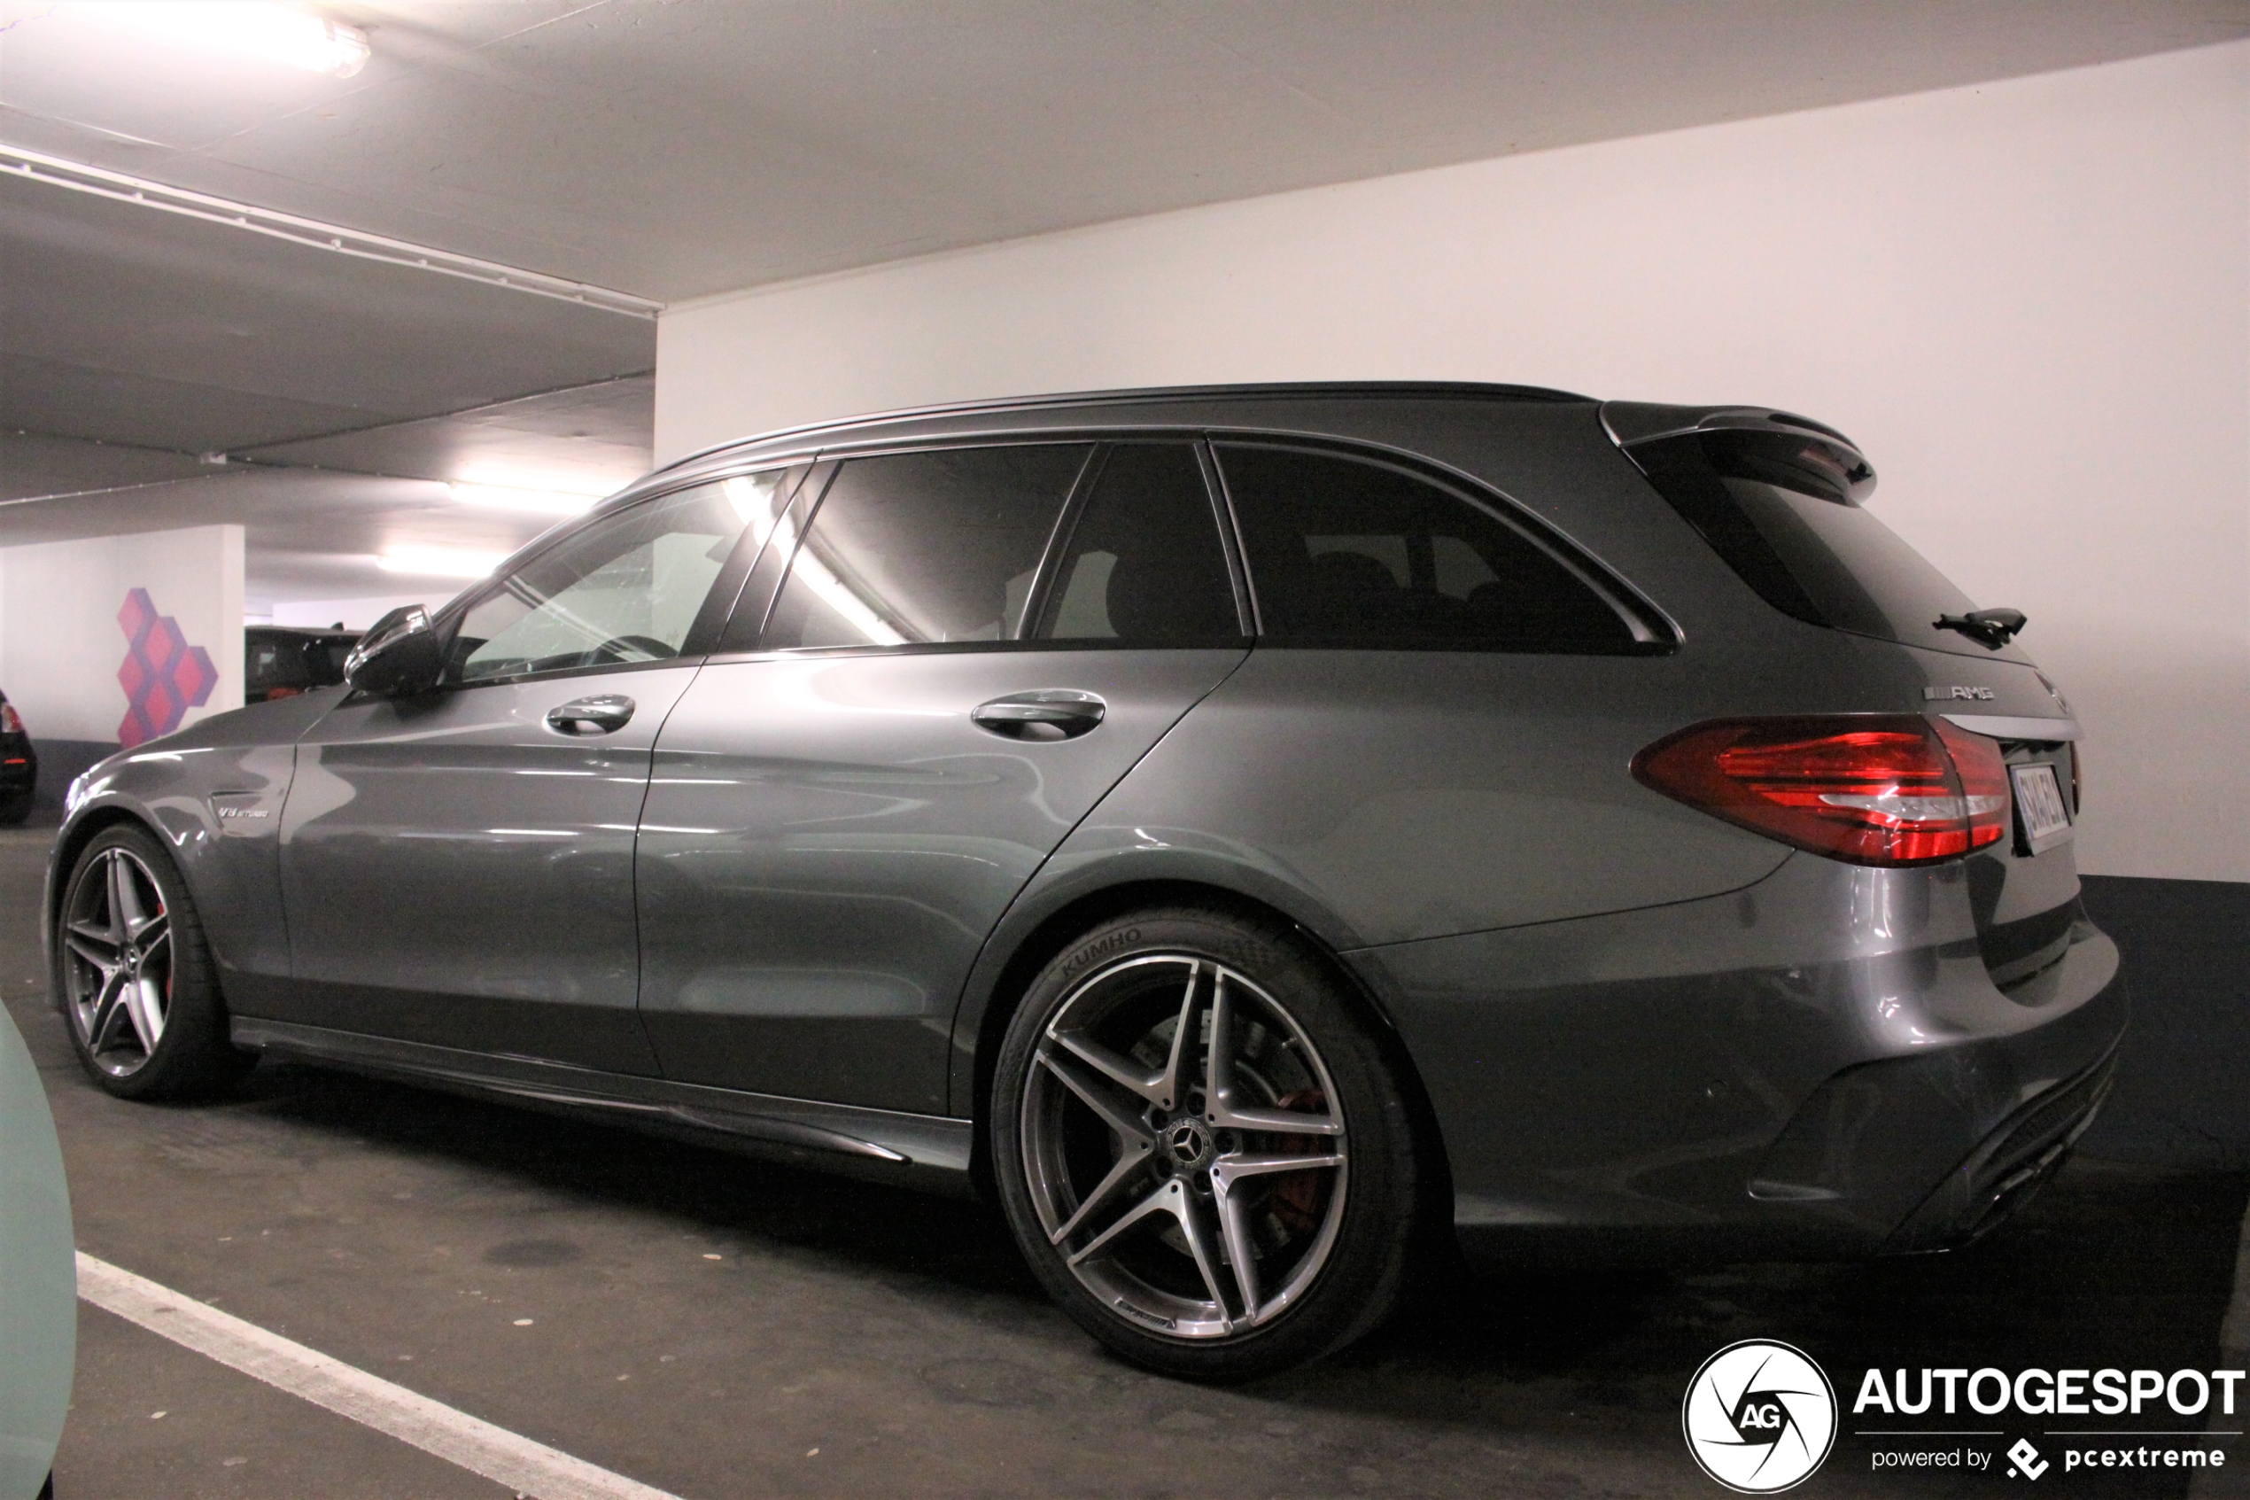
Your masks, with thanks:
M 0 146 L 677 304 L 2250 36 L 2250 0 L 313 9 L 367 31 L 356 76 L 0 0 Z M 614 484 L 648 461 L 655 364 L 655 324 L 616 306 L 0 175 L 0 499 L 202 475 L 198 454 Z M 0 540 L 27 522 L 0 508 Z

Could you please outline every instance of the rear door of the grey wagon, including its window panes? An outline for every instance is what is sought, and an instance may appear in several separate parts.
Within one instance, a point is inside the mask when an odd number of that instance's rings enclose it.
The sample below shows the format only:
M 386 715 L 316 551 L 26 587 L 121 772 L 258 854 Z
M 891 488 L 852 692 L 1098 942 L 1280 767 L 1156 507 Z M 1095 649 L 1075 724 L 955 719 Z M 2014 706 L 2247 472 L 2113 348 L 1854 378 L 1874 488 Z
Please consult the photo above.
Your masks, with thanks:
M 641 1019 L 666 1077 L 940 1113 L 992 924 L 1249 650 L 1199 448 L 848 459 L 756 605 L 657 742 Z

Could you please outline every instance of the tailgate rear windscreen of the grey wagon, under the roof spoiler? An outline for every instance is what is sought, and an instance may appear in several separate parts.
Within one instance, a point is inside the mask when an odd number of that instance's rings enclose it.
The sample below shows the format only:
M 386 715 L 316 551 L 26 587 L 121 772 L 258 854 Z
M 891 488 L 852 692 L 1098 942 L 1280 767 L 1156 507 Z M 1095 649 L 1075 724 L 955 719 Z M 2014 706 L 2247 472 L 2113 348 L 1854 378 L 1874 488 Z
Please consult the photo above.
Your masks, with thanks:
M 1883 641 L 1966 645 L 1935 621 L 1976 605 L 1852 497 L 1818 441 L 1719 430 L 1636 443 L 1629 454 L 1775 609 Z

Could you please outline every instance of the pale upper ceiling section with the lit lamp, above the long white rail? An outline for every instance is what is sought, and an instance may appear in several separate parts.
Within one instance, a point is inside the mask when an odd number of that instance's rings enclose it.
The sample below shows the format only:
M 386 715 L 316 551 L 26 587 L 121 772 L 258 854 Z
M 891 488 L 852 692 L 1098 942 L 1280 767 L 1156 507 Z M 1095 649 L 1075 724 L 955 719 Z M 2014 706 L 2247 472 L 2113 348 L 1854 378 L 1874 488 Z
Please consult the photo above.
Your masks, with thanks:
M 2241 0 L 338 0 L 364 70 L 274 79 L 0 9 L 0 139 L 659 301 L 2250 34 Z

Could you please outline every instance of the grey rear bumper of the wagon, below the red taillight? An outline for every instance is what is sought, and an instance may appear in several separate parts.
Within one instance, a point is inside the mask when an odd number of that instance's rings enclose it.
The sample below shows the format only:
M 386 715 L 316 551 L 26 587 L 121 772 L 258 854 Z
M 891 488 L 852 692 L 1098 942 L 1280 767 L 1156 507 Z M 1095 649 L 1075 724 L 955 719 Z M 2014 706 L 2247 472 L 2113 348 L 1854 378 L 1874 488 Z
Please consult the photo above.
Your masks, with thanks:
M 2092 927 L 2002 994 L 1960 866 L 1804 855 L 1726 897 L 1346 958 L 1478 1264 L 1962 1244 L 2092 1120 L 2128 1012 Z

